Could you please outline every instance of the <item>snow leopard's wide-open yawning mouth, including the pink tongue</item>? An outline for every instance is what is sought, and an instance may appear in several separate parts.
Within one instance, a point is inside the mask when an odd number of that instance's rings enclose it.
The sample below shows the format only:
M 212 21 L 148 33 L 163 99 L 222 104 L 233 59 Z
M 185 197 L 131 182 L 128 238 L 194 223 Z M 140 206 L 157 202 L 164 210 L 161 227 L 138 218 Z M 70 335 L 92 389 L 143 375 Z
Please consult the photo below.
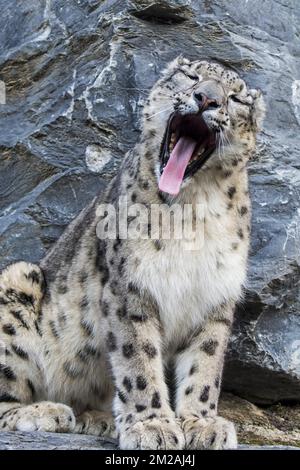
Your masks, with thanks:
M 171 114 L 160 151 L 159 189 L 176 195 L 185 178 L 192 176 L 216 148 L 216 133 L 202 113 Z

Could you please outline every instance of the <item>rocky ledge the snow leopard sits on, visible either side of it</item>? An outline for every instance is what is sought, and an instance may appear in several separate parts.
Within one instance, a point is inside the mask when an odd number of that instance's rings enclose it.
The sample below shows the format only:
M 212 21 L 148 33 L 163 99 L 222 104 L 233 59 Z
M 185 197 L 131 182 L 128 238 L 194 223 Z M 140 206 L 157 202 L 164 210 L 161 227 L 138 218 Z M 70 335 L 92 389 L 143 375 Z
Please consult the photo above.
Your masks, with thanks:
M 300 405 L 259 408 L 223 394 L 220 414 L 234 421 L 239 449 L 300 450 Z M 0 450 L 118 450 L 111 439 L 80 434 L 0 432 Z

